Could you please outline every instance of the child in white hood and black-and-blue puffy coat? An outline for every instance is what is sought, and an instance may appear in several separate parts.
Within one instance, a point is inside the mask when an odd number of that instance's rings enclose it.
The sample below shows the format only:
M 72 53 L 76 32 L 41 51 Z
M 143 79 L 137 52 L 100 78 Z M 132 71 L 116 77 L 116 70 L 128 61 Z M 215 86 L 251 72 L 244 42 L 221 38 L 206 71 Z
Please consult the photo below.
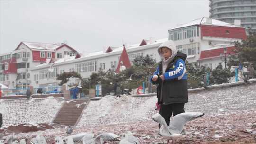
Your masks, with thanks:
M 162 61 L 159 63 L 154 75 L 153 84 L 158 84 L 157 98 L 160 105 L 159 113 L 165 118 L 169 126 L 170 117 L 184 111 L 188 102 L 187 74 L 185 60 L 187 55 L 177 52 L 173 41 L 166 41 L 158 48 Z

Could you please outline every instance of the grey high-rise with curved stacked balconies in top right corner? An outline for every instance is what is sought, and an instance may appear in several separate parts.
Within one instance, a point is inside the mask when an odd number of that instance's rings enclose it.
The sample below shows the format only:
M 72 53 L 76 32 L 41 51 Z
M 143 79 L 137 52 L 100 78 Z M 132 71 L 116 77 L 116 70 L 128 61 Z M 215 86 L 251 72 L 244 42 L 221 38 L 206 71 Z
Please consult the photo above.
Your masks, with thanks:
M 210 18 L 235 24 L 256 32 L 256 0 L 209 0 Z M 248 32 L 248 31 L 247 31 Z

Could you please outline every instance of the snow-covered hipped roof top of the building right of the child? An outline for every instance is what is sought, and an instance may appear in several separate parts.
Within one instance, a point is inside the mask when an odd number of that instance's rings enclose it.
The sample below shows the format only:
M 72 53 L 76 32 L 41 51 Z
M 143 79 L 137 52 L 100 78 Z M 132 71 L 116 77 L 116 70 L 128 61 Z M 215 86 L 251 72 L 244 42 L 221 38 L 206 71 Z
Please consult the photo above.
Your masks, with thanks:
M 226 23 L 223 21 L 219 21 L 216 19 L 212 19 L 212 18 L 208 18 L 208 17 L 202 17 L 202 18 L 198 18 L 195 19 L 189 23 L 177 26 L 177 27 L 173 27 L 170 30 L 174 30 L 174 29 L 178 29 L 178 28 L 182 28 L 182 27 L 189 27 L 189 26 L 194 26 L 194 25 L 213 25 L 213 26 L 225 26 L 225 27 L 241 27 L 241 26 L 236 26 L 230 23 Z

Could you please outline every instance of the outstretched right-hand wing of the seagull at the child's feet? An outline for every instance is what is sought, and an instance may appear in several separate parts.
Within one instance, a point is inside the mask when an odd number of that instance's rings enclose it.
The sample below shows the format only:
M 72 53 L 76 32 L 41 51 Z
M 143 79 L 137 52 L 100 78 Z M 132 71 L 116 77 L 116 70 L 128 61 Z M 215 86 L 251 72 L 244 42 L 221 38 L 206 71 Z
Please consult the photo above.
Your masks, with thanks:
M 170 121 L 170 125 L 168 126 L 171 131 L 173 131 L 174 133 L 180 134 L 183 126 L 185 126 L 185 124 L 188 121 L 192 121 L 198 117 L 202 117 L 204 115 L 204 113 L 201 112 L 184 112 L 184 113 L 180 113 L 178 115 L 176 115 L 174 117 L 173 121 Z

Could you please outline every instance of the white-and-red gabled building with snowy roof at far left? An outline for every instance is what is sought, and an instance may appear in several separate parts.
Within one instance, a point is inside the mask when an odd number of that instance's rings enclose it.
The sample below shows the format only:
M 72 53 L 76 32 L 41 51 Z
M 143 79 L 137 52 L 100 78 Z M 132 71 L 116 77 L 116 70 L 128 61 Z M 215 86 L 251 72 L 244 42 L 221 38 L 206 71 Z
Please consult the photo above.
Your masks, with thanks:
M 25 88 L 33 80 L 31 68 L 50 59 L 76 54 L 78 52 L 66 44 L 20 42 L 11 53 L 0 55 L 0 83 L 9 89 Z

